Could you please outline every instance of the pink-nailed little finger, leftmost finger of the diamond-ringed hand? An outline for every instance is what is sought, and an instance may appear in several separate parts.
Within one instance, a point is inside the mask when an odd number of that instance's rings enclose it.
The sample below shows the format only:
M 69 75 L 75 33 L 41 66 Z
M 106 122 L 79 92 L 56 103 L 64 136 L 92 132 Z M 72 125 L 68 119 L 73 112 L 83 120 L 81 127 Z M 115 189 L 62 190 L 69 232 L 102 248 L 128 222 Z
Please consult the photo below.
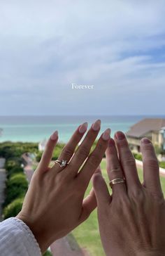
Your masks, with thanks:
M 50 164 L 50 161 L 52 159 L 52 153 L 54 151 L 54 148 L 57 144 L 58 140 L 58 132 L 55 131 L 48 140 L 45 151 L 43 151 L 43 155 L 41 157 L 41 161 L 39 162 L 38 169 L 42 170 L 43 172 L 48 169 L 48 166 Z

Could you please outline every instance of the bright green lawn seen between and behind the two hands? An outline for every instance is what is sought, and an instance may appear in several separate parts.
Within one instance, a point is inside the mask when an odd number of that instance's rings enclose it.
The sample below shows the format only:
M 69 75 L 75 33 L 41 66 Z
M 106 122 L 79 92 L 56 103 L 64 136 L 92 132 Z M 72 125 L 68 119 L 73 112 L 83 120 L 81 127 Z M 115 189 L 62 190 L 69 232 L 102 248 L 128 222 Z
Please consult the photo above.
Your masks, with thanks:
M 108 176 L 106 174 L 106 162 L 103 160 L 101 162 L 101 169 L 103 173 L 103 177 L 106 179 L 106 183 L 109 183 Z M 143 173 L 141 169 L 138 169 L 138 175 L 141 181 L 143 181 Z M 165 178 L 161 177 L 162 190 L 165 195 Z M 89 193 L 92 188 L 92 184 L 89 184 L 87 188 L 87 193 Z M 86 222 L 82 223 L 78 226 L 73 232 L 73 236 L 75 236 L 76 241 L 80 245 L 81 248 L 87 248 L 91 256 L 105 256 L 103 252 L 103 248 L 101 245 L 101 240 L 99 237 L 99 226 L 97 222 L 97 214 L 96 210 L 92 212 Z

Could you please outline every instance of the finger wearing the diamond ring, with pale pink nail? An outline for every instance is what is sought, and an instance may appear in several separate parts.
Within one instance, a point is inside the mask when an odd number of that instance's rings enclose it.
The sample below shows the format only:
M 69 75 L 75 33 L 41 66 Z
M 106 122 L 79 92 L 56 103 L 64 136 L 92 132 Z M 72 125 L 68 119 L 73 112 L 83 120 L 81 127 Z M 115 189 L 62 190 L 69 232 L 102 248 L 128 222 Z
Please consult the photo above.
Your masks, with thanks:
M 64 146 L 62 153 L 59 155 L 58 160 L 66 160 L 67 162 L 69 162 L 69 160 L 71 159 L 76 146 L 78 145 L 78 143 L 80 142 L 80 140 L 82 139 L 82 136 L 85 134 L 85 132 L 87 131 L 87 122 L 81 124 L 78 129 L 76 129 L 76 132 L 73 133 L 73 136 L 71 136 L 71 139 L 69 140 L 68 143 L 66 143 L 66 146 Z M 55 164 L 52 169 L 58 171 L 62 171 L 62 169 L 64 169 L 64 167 L 59 167 L 59 165 Z

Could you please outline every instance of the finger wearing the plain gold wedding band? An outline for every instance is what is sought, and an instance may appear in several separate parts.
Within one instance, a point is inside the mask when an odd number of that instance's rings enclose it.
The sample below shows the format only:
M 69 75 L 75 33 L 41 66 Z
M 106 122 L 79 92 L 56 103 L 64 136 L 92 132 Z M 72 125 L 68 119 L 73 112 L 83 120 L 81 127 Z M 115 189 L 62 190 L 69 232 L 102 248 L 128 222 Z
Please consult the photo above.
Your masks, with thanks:
M 115 141 L 113 139 L 108 141 L 108 148 L 106 150 L 106 168 L 110 181 L 117 178 L 124 179 L 120 161 L 117 156 Z M 127 191 L 126 184 L 124 183 L 114 184 L 112 189 L 113 193 L 120 193 L 120 195 Z

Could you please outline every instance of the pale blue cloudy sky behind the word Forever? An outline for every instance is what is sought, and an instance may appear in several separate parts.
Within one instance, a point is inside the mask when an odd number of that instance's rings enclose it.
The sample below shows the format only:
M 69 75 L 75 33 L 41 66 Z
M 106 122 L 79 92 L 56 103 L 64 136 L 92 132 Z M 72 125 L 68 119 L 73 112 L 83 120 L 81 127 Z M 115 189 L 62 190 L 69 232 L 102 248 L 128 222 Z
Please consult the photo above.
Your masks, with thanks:
M 0 115 L 164 115 L 164 13 L 164 0 L 0 0 Z

